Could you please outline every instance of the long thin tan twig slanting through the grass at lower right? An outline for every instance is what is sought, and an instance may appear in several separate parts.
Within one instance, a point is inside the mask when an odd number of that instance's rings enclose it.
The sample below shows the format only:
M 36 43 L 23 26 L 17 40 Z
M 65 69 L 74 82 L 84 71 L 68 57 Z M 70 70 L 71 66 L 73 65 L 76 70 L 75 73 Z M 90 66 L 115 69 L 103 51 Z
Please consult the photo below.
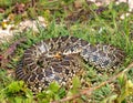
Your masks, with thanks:
M 113 82 L 114 80 L 116 80 L 121 74 L 127 72 L 130 69 L 133 68 L 133 63 L 131 63 L 124 71 L 117 73 L 116 75 L 110 78 L 108 81 L 105 82 L 102 82 L 101 84 L 99 84 L 98 86 L 94 86 L 94 87 L 89 87 L 89 89 L 85 89 L 85 90 L 82 90 L 79 94 L 75 94 L 73 96 L 68 96 L 68 97 L 64 97 L 62 100 L 59 100 L 59 101 L 53 101 L 51 103 L 62 103 L 62 102 L 68 102 L 68 101 L 72 101 L 74 99 L 78 99 L 78 97 L 81 97 L 82 95 L 91 95 L 93 91 L 102 87 L 103 85 L 108 84 L 108 83 L 111 83 Z

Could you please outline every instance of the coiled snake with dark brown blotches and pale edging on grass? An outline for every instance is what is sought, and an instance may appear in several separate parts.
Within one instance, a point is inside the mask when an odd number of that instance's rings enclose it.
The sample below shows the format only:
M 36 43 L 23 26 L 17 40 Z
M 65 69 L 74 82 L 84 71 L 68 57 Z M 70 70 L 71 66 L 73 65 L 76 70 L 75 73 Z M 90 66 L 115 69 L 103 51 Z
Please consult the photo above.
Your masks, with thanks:
M 41 40 L 28 48 L 16 70 L 17 80 L 24 81 L 33 92 L 41 92 L 52 82 L 71 86 L 74 76 L 82 78 L 83 63 L 98 71 L 114 70 L 125 56 L 111 44 L 91 44 L 84 39 L 62 35 Z

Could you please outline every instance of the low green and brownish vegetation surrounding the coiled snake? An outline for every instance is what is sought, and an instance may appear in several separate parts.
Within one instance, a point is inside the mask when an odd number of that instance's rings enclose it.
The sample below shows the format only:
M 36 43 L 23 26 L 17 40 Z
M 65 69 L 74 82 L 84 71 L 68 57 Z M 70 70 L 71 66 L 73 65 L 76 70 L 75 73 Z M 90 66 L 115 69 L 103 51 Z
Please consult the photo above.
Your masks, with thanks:
M 1 1 L 4 1 L 4 4 Z M 16 2 L 11 1 L 0 0 L 1 8 L 6 8 L 3 9 L 4 13 L 0 13 L 1 21 L 12 13 Z M 21 2 L 21 0 L 18 0 L 18 3 L 24 4 L 24 1 Z M 3 56 L 8 56 L 7 59 L 9 59 L 8 62 L 4 61 L 4 66 L 0 68 L 1 103 L 133 102 L 133 14 L 121 19 L 121 16 L 127 12 L 127 4 L 125 3 L 116 6 L 112 2 L 106 7 L 96 7 L 93 3 L 86 3 L 84 0 L 80 1 L 79 6 L 76 6 L 78 0 L 40 0 L 37 7 L 33 6 L 27 9 L 27 14 L 30 14 L 30 19 L 34 19 L 34 16 L 44 17 L 48 21 L 48 27 L 44 29 L 39 28 L 39 33 L 32 32 L 32 29 L 30 29 L 25 32 L 14 34 L 14 38 L 10 42 L 1 43 L 0 60 L 2 61 Z M 16 22 L 20 22 L 22 19 L 23 13 L 14 18 Z M 42 93 L 34 95 L 27 87 L 27 84 L 16 80 L 12 71 L 16 70 L 25 49 L 40 40 L 59 35 L 74 35 L 92 44 L 112 44 L 125 52 L 125 60 L 114 73 L 103 73 L 102 75 L 93 66 L 85 64 L 88 70 L 85 78 L 90 85 L 85 90 L 81 90 L 81 81 L 79 78 L 74 78 L 73 87 L 69 91 L 64 87 L 60 89 L 60 85 L 57 83 L 52 83 Z M 25 39 L 24 42 L 19 42 L 21 38 Z M 3 54 L 9 48 L 11 52 Z

